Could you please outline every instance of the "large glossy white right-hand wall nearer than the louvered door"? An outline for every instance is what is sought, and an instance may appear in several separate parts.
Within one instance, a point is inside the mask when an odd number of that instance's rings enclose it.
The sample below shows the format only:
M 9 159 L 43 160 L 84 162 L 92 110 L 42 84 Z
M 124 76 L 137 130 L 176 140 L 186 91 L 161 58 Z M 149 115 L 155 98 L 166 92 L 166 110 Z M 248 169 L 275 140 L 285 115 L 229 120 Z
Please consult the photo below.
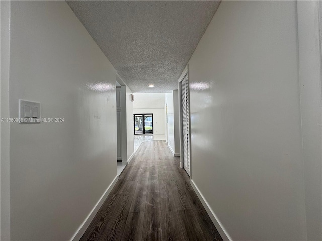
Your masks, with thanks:
M 233 240 L 306 240 L 297 61 L 291 1 L 223 1 L 189 61 L 192 182 Z

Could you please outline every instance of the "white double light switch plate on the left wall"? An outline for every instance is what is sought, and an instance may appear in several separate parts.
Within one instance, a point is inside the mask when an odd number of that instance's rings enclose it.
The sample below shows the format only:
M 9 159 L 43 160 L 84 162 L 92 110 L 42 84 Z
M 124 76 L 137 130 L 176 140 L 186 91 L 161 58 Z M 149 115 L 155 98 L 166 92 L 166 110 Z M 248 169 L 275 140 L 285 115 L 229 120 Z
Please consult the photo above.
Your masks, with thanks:
M 40 123 L 40 103 L 19 99 L 19 123 Z

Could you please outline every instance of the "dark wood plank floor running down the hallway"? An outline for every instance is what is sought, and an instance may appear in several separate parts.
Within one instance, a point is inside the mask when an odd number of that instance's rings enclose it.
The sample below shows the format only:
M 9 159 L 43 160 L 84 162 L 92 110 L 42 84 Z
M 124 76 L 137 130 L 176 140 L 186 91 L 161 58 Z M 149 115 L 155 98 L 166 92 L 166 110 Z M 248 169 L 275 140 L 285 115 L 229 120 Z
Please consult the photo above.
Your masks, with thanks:
M 81 240 L 222 240 L 179 161 L 143 142 Z

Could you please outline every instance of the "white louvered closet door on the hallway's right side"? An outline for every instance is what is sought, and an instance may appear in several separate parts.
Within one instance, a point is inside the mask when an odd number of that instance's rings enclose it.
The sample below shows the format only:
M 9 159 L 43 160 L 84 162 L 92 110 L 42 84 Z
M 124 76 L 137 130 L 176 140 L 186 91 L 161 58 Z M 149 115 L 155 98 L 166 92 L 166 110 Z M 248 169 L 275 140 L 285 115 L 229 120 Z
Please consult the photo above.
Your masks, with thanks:
M 183 166 L 190 176 L 190 134 L 189 134 L 189 81 L 188 74 L 181 81 L 181 109 L 182 109 L 182 145 Z

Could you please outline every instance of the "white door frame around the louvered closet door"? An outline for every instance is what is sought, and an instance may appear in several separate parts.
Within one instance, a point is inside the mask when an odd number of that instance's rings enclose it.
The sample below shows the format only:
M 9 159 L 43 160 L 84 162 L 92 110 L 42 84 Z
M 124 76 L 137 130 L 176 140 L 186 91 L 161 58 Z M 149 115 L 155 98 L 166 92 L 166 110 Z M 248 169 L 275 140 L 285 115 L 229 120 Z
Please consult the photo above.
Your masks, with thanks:
M 181 106 L 181 97 L 182 97 L 182 90 L 181 90 L 181 82 L 184 80 L 184 78 L 186 77 L 186 75 L 188 76 L 188 81 L 190 79 L 189 76 L 189 64 L 187 64 L 187 66 L 185 67 L 185 69 L 183 70 L 179 80 L 178 80 L 178 90 L 179 90 L 179 94 L 178 94 L 178 98 L 179 98 L 179 130 L 180 130 L 180 167 L 184 168 L 184 163 L 183 163 L 183 140 L 182 140 L 182 135 L 183 135 L 183 130 L 182 130 L 182 106 Z M 190 179 L 192 178 L 192 158 L 191 158 L 191 118 L 190 118 L 190 88 L 188 89 L 188 99 L 189 99 L 189 103 L 188 103 L 188 109 L 189 109 L 189 156 L 190 156 Z

